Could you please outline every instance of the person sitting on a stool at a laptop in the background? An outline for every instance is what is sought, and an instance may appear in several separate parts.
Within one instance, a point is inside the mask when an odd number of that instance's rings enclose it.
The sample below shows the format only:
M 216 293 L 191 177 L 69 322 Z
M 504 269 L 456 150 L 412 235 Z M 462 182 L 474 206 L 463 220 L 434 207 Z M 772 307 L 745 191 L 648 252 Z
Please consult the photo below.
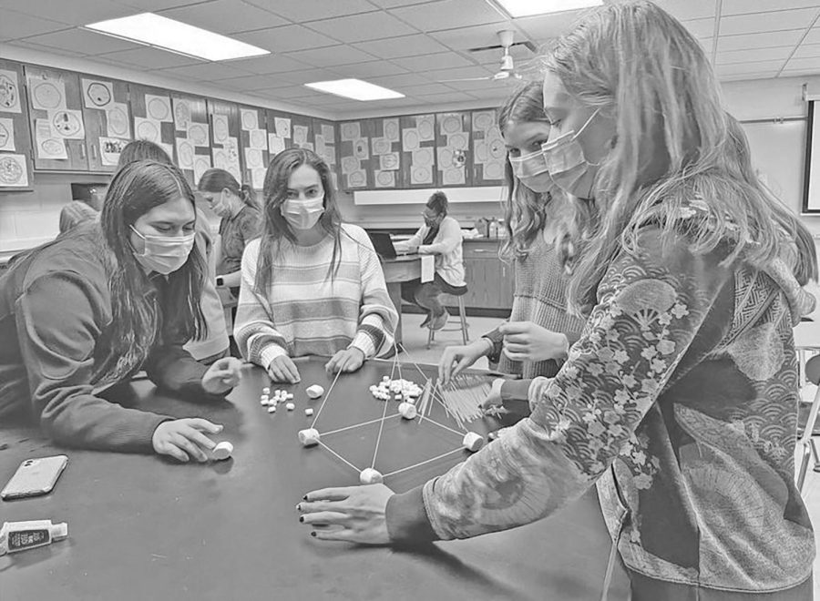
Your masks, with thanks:
M 447 217 L 447 197 L 435 192 L 427 200 L 422 213 L 425 225 L 415 232 L 413 238 L 395 243 L 398 252 L 418 252 L 420 255 L 436 255 L 436 274 L 433 281 L 410 280 L 402 283 L 402 298 L 427 311 L 421 327 L 441 330 L 449 314 L 439 301 L 443 292 L 464 292 L 464 260 L 462 259 L 461 226 Z

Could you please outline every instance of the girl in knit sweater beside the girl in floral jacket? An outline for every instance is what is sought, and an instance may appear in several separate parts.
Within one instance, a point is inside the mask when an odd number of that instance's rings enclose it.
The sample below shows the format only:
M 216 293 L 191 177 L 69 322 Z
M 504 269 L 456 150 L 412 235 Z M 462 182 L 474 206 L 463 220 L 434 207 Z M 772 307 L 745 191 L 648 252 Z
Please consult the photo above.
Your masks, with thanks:
M 572 203 L 555 188 L 540 155 L 550 126 L 544 115 L 541 82 L 532 82 L 510 97 L 498 113 L 507 144 L 507 240 L 502 259 L 515 265 L 516 290 L 509 321 L 470 344 L 449 346 L 441 355 L 439 375 L 446 384 L 458 372 L 487 357 L 498 371 L 523 380 L 497 379 L 487 402 L 507 403 L 511 411 L 529 413 L 527 402 L 540 398 L 540 386 L 558 373 L 569 345 L 577 341 L 584 321 L 569 315 L 567 275 L 562 249 L 569 245 L 575 218 Z M 555 195 L 548 191 L 552 188 Z

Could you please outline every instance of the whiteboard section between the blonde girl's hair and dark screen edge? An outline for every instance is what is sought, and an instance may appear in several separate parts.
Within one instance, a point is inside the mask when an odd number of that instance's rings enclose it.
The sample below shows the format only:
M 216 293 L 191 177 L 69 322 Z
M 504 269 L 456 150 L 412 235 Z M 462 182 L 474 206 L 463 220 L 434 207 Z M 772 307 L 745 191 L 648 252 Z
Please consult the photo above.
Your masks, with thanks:
M 743 123 L 752 165 L 774 195 L 795 213 L 803 209 L 805 121 Z M 817 169 L 820 174 L 820 168 Z M 818 188 L 820 191 L 820 188 Z M 820 211 L 820 199 L 817 199 Z

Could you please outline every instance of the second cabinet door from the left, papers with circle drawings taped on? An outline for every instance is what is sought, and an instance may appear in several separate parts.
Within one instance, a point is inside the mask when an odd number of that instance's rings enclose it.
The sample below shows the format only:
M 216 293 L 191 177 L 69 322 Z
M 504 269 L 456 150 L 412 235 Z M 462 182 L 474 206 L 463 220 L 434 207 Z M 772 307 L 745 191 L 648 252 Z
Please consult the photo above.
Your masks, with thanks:
M 87 171 L 79 76 L 42 66 L 25 71 L 35 169 Z

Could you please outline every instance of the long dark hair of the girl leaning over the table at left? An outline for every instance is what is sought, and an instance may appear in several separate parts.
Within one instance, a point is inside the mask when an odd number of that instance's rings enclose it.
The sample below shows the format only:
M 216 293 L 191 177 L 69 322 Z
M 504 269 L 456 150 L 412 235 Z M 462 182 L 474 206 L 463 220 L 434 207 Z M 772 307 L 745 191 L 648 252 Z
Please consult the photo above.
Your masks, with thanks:
M 180 196 L 195 207 L 193 192 L 179 168 L 151 160 L 126 165 L 108 186 L 100 226 L 109 258 L 113 332 L 99 380 L 118 380 L 145 362 L 168 319 L 172 319 L 169 327 L 183 339 L 199 340 L 206 331 L 200 309 L 206 267 L 196 245 L 185 264 L 160 283 L 158 298 L 150 293 L 152 284 L 130 243 L 137 219 Z

